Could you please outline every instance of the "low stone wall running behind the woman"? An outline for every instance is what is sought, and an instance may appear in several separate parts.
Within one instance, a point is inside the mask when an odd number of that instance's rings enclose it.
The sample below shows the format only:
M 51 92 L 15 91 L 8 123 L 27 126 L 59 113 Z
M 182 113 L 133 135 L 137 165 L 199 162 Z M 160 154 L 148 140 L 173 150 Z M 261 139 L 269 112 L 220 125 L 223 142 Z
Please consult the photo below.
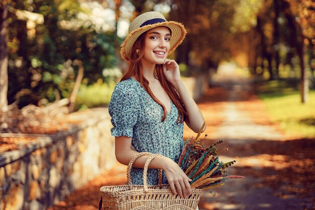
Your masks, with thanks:
M 184 83 L 197 99 L 207 88 L 207 77 L 185 78 Z M 81 123 L 56 134 L 0 134 L 33 139 L 0 154 L 0 210 L 47 209 L 116 163 L 108 108 L 71 115 Z

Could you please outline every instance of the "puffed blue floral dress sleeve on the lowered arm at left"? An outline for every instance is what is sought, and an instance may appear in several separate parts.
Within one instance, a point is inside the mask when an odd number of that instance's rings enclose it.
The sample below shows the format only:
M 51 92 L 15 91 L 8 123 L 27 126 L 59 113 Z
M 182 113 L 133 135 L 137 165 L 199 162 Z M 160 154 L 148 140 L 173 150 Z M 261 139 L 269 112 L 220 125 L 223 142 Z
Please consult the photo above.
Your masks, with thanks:
M 109 114 L 114 127 L 113 136 L 133 136 L 133 127 L 137 123 L 139 97 L 136 90 L 117 84 L 109 104 Z

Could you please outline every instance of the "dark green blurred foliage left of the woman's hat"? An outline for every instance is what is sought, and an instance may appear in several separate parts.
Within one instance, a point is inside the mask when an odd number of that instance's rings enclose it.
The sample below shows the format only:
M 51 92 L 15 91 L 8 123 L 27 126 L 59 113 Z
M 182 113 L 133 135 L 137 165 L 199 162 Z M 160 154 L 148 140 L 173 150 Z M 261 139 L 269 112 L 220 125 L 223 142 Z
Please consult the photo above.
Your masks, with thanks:
M 27 28 L 17 10 L 32 11 L 43 24 Z M 77 75 L 75 60 L 81 60 L 86 84 L 104 77 L 103 70 L 117 65 L 116 47 L 121 43 L 115 31 L 101 31 L 78 14 L 90 13 L 77 0 L 12 2 L 9 18 L 9 103 L 20 107 L 46 98 L 69 97 Z

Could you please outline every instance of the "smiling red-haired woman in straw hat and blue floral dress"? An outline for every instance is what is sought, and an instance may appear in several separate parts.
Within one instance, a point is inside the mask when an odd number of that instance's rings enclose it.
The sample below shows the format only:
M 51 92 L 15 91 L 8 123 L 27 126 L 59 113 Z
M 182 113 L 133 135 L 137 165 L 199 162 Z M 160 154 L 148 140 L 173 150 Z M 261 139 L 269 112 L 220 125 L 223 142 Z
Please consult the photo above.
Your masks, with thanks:
M 162 154 L 165 157 L 156 157 L 149 165 L 148 185 L 157 184 L 157 169 L 162 168 L 163 183 L 186 198 L 192 180 L 177 164 L 184 147 L 183 122 L 198 132 L 204 118 L 181 81 L 179 65 L 167 59 L 185 35 L 182 24 L 166 21 L 157 12 L 144 13 L 131 22 L 121 46 L 129 68 L 114 89 L 109 113 L 116 159 L 128 165 L 138 152 Z M 135 161 L 130 173 L 133 184 L 143 184 L 147 158 Z

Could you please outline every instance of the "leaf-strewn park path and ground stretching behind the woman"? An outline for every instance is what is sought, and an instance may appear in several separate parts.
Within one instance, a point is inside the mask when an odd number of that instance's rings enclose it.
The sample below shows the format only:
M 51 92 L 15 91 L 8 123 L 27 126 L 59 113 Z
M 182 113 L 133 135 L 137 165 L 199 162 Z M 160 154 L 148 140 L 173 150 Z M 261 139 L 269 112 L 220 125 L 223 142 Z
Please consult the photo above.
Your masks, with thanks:
M 237 160 L 227 174 L 246 176 L 213 188 L 216 196 L 204 191 L 200 210 L 315 209 L 315 141 L 286 141 L 268 121 L 251 80 L 239 76 L 232 65 L 221 66 L 197 104 L 207 123 L 205 146 L 223 140 L 218 151 L 229 151 L 220 153 L 219 159 Z M 191 136 L 195 133 L 185 126 L 184 138 Z M 100 187 L 124 184 L 125 173 L 126 167 L 117 164 L 49 210 L 98 209 Z

